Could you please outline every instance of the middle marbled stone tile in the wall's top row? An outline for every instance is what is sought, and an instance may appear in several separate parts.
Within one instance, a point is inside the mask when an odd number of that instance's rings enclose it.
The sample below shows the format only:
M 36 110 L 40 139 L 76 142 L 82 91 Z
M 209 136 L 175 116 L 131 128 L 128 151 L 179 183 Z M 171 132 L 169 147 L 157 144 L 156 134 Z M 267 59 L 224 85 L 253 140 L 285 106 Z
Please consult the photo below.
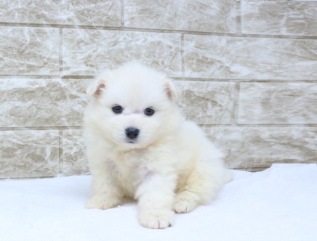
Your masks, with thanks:
M 124 0 L 124 25 L 133 28 L 236 33 L 236 2 Z

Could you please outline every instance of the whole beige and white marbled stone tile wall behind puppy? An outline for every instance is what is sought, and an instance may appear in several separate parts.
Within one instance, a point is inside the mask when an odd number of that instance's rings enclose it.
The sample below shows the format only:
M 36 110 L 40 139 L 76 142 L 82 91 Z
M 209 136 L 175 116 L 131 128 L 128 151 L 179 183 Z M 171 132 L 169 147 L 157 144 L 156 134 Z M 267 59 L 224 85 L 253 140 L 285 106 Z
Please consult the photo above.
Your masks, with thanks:
M 134 59 L 228 167 L 317 162 L 317 1 L 1 0 L 0 178 L 87 173 L 87 82 Z

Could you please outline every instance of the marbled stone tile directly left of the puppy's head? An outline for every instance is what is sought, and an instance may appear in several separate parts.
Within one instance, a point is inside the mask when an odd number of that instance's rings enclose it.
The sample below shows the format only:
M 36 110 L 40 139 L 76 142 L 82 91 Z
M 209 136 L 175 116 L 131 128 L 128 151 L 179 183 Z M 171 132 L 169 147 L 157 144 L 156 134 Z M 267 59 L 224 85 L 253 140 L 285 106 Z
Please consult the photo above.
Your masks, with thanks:
M 0 126 L 81 125 L 87 81 L 0 79 Z

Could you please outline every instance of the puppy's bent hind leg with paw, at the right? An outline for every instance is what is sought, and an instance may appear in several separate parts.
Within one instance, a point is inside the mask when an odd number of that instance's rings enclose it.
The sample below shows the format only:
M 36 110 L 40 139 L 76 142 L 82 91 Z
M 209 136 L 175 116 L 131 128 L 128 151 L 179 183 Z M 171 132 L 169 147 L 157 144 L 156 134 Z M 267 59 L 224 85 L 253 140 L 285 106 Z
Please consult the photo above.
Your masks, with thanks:
M 215 166 L 197 166 L 190 174 L 186 186 L 175 197 L 174 208 L 178 213 L 188 213 L 199 204 L 214 197 L 224 185 L 223 168 Z

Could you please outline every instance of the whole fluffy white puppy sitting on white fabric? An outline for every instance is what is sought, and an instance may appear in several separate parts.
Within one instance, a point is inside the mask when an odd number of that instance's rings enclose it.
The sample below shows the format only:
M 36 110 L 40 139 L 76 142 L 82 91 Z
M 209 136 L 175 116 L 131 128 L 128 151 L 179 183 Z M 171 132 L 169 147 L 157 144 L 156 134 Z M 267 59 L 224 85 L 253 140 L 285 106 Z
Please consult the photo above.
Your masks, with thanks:
M 139 222 L 173 224 L 231 181 L 222 155 L 193 122 L 182 117 L 171 80 L 128 63 L 91 83 L 85 142 L 93 197 L 87 208 L 108 209 L 122 197 L 138 200 Z

